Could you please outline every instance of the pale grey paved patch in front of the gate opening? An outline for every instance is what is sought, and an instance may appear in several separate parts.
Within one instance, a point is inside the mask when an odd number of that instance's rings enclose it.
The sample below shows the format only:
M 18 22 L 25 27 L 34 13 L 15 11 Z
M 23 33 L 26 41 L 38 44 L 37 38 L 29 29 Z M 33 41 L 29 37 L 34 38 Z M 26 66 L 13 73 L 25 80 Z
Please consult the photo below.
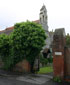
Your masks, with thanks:
M 48 75 L 29 74 L 26 76 L 16 77 L 16 80 L 41 85 L 41 84 L 46 83 L 47 81 L 50 81 L 52 78 L 53 78 L 52 76 L 48 76 Z

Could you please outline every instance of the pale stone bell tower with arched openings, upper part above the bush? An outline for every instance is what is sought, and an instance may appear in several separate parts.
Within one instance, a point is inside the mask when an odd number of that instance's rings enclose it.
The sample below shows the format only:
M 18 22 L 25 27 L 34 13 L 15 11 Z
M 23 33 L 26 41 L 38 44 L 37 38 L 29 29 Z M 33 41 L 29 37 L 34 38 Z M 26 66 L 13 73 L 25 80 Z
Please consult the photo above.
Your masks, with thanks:
M 45 5 L 43 5 L 42 8 L 40 9 L 39 20 L 40 20 L 40 24 L 43 26 L 44 30 L 47 32 L 48 31 L 47 10 Z

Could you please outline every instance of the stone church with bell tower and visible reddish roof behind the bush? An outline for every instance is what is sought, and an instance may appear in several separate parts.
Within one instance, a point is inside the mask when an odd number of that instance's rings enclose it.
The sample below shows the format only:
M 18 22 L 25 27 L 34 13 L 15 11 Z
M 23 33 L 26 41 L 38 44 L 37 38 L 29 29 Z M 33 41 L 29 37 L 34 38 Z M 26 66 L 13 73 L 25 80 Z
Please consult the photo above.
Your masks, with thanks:
M 49 32 L 48 30 L 48 16 L 47 16 L 47 9 L 45 5 L 43 5 L 42 8 L 40 9 L 39 20 L 35 20 L 33 22 L 41 24 L 43 29 L 45 30 L 47 39 L 45 41 L 46 45 L 43 47 L 43 51 L 47 53 L 48 49 L 50 49 L 50 46 L 53 40 L 53 32 Z M 11 32 L 13 32 L 13 29 L 14 29 L 14 26 L 8 27 L 5 30 L 0 31 L 0 34 L 5 33 L 9 35 Z

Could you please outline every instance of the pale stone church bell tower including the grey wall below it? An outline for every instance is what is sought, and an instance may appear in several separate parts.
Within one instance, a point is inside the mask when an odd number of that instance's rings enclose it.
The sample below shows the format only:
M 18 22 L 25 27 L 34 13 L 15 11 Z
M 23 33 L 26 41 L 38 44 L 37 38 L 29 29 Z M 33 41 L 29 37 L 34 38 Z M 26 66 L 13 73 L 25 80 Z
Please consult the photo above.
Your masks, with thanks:
M 46 45 L 43 47 L 43 49 L 46 49 L 46 48 L 49 49 L 51 42 L 50 42 L 50 35 L 48 31 L 47 9 L 45 5 L 43 5 L 42 8 L 40 9 L 39 23 L 42 25 L 47 35 L 47 39 L 45 40 Z

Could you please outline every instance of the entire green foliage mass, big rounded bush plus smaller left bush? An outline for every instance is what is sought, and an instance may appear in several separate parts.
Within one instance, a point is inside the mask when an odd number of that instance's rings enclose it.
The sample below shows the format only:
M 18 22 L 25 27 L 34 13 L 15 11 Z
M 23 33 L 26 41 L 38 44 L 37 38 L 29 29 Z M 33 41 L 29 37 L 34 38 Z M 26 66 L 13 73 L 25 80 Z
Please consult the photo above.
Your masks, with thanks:
M 33 68 L 35 58 L 45 45 L 45 39 L 41 25 L 29 21 L 15 24 L 9 36 L 0 35 L 0 56 L 4 68 L 9 69 L 23 59 L 27 59 Z

